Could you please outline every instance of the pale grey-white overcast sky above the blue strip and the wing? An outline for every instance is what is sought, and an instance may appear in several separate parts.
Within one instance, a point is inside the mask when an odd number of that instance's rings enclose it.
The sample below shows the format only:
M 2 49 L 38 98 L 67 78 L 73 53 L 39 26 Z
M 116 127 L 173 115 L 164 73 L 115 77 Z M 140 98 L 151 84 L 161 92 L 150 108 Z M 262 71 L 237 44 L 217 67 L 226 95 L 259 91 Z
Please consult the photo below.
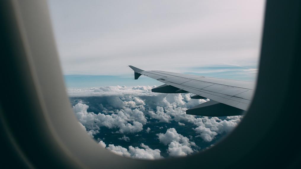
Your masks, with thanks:
M 49 0 L 65 75 L 256 68 L 264 2 Z

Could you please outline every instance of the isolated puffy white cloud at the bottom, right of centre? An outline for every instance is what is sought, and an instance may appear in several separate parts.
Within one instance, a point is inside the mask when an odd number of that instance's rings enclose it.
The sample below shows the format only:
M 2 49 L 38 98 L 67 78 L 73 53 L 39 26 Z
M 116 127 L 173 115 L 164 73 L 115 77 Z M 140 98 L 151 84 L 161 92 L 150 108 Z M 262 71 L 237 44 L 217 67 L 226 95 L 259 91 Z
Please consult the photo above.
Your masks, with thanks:
M 164 145 L 168 145 L 168 152 L 171 156 L 183 156 L 194 152 L 192 146 L 196 147 L 196 144 L 190 141 L 182 134 L 178 134 L 175 128 L 167 129 L 166 133 L 157 134 L 158 139 Z

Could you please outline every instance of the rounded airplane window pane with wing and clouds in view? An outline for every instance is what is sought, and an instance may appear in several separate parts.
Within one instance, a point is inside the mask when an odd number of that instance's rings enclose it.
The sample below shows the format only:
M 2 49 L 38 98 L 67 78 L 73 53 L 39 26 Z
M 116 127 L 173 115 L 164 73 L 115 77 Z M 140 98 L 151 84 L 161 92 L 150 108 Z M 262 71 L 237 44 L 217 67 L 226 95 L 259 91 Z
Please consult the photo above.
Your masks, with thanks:
M 72 109 L 100 146 L 142 159 L 192 155 L 243 119 L 264 1 L 48 5 Z

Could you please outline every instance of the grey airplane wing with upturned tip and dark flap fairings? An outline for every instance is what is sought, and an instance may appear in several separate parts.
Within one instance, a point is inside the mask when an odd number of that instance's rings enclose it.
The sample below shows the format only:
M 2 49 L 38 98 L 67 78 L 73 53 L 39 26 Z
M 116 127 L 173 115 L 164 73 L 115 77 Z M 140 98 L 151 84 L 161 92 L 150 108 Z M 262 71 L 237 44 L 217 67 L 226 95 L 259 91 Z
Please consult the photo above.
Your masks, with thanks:
M 253 97 L 254 82 L 220 79 L 166 71 L 144 71 L 129 66 L 135 72 L 135 79 L 141 75 L 165 83 L 152 89 L 159 93 L 194 93 L 193 99 L 209 98 L 186 114 L 199 116 L 236 116 L 242 115 L 249 107 Z

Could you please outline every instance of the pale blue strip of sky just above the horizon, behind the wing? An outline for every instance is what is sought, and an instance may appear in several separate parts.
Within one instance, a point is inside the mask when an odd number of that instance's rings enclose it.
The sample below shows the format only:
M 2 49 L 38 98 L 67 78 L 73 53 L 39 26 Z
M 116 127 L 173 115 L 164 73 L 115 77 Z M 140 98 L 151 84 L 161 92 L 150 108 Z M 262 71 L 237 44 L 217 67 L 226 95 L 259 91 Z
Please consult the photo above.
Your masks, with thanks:
M 257 76 L 256 66 L 215 66 L 190 68 L 185 74 L 202 75 L 225 79 L 255 81 Z M 68 88 L 100 87 L 100 86 L 160 86 L 163 83 L 141 76 L 134 80 L 133 72 L 128 68 L 128 73 L 120 76 L 112 75 L 64 75 Z

